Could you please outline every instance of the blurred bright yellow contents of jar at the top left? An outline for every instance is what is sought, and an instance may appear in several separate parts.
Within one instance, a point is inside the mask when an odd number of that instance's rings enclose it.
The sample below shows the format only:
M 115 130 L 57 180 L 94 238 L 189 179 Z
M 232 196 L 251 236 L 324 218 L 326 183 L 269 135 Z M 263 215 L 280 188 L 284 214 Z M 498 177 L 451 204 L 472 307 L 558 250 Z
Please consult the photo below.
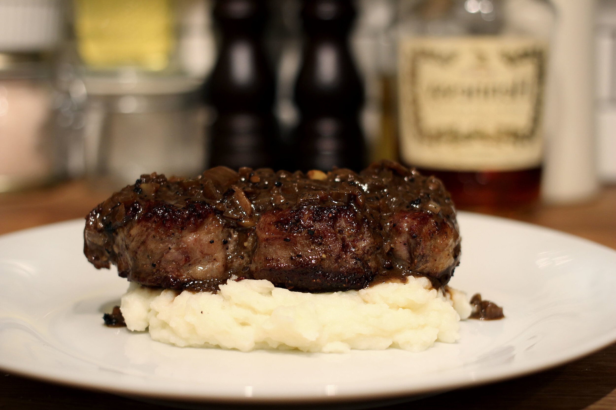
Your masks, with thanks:
M 163 70 L 174 47 L 172 0 L 75 0 L 75 32 L 87 66 Z

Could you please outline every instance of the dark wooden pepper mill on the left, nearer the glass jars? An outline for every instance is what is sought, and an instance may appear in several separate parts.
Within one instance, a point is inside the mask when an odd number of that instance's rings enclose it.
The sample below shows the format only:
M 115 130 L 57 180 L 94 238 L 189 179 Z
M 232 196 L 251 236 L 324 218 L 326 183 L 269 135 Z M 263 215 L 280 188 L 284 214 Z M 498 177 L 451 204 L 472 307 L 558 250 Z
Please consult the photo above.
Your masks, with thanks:
M 262 0 L 218 0 L 214 18 L 222 42 L 206 91 L 216 109 L 209 166 L 275 167 L 275 79 L 262 42 L 267 5 Z

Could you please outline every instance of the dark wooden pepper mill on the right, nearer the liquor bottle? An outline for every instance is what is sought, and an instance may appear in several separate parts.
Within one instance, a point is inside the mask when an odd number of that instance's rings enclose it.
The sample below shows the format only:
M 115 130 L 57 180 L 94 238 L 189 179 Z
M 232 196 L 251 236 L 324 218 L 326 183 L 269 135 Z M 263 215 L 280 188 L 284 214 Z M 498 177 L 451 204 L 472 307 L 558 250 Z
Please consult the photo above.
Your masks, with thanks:
M 349 50 L 355 18 L 351 0 L 304 0 L 306 40 L 295 85 L 301 119 L 293 132 L 296 166 L 359 171 L 366 147 L 359 126 L 363 84 Z M 295 158 L 294 158 L 295 159 Z

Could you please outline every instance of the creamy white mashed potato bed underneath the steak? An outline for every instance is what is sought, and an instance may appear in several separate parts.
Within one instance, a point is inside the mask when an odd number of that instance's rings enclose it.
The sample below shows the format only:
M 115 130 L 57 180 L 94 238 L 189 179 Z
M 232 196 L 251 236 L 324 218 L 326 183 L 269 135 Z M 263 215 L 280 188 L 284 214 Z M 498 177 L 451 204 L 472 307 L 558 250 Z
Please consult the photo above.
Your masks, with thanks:
M 453 343 L 471 307 L 459 291 L 433 289 L 426 278 L 359 291 L 302 293 L 266 280 L 227 281 L 220 292 L 152 289 L 131 283 L 121 311 L 131 331 L 177 346 L 304 352 L 388 347 L 418 352 Z

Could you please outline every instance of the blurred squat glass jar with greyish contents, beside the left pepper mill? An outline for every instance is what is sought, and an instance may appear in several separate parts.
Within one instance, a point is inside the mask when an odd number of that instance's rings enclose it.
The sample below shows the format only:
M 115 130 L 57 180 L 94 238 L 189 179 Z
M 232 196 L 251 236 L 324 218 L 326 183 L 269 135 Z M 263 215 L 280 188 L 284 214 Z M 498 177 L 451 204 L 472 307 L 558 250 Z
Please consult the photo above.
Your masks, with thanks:
M 86 173 L 111 183 L 205 169 L 200 82 L 184 77 L 84 78 Z

